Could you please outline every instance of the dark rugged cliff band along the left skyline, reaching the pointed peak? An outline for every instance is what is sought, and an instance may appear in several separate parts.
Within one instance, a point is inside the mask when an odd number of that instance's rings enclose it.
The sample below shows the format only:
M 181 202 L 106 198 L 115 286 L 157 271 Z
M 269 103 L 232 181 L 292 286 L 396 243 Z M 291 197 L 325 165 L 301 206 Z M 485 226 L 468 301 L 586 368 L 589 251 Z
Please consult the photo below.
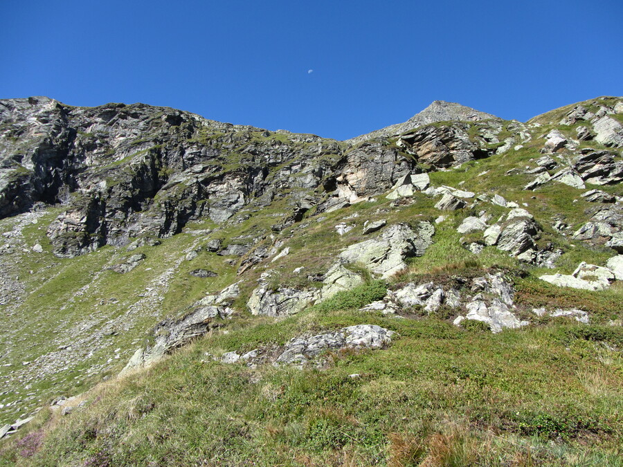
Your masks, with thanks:
M 434 102 L 392 131 L 486 115 Z M 0 101 L 0 122 L 0 217 L 62 203 L 48 235 L 64 257 L 130 237 L 168 237 L 205 216 L 220 223 L 252 199 L 285 196 L 294 217 L 314 206 L 321 212 L 384 192 L 410 172 L 493 152 L 467 127 L 424 127 L 398 145 L 372 137 L 352 145 L 163 107 L 69 107 L 48 98 Z

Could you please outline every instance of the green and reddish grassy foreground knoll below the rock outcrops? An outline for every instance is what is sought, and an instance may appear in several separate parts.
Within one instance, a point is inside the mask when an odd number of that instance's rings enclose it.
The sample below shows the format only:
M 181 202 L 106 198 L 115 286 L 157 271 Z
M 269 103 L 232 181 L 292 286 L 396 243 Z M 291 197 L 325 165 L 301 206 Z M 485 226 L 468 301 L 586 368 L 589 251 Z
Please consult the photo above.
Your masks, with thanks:
M 320 372 L 204 356 L 354 322 L 400 337 L 386 350 L 329 354 Z M 1 448 L 0 465 L 614 466 L 623 361 L 601 343 L 608 336 L 581 329 L 493 335 L 431 319 L 310 311 L 269 331 L 216 333 L 98 387 L 71 416 L 44 411 Z

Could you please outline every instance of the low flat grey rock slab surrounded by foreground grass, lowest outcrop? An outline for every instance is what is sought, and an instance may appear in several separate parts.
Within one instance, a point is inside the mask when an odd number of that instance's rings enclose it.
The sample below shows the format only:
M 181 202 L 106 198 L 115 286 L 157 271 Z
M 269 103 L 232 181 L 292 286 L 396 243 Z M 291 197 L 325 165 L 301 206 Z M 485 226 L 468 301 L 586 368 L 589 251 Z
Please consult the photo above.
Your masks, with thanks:
M 287 343 L 275 365 L 304 365 L 330 349 L 381 349 L 390 344 L 394 335 L 383 327 L 358 324 L 332 333 L 301 336 Z

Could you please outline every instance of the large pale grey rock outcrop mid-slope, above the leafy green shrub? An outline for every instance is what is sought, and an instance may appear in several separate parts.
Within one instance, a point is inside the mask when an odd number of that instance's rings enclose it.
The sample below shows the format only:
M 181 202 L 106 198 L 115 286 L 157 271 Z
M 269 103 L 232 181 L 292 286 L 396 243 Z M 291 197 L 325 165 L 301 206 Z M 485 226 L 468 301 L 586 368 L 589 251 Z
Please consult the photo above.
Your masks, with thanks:
M 404 259 L 422 256 L 432 244 L 435 228 L 429 222 L 420 222 L 417 232 L 405 224 L 387 228 L 380 238 L 362 241 L 346 248 L 340 259 L 347 263 L 359 263 L 383 278 L 406 267 Z

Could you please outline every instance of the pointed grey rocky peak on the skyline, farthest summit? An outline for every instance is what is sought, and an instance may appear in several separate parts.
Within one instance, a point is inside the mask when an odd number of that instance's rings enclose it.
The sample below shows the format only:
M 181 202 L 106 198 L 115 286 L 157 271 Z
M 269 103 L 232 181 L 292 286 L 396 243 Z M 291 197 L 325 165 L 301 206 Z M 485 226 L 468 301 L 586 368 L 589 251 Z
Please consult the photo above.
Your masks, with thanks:
M 389 127 L 381 128 L 371 133 L 357 136 L 348 140 L 349 143 L 359 143 L 372 138 L 383 136 L 394 136 L 406 131 L 410 131 L 422 125 L 430 125 L 435 122 L 478 122 L 489 119 L 500 120 L 491 113 L 481 112 L 471 107 L 457 104 L 456 102 L 446 102 L 445 100 L 434 100 L 423 111 L 416 113 L 404 123 L 397 123 Z

